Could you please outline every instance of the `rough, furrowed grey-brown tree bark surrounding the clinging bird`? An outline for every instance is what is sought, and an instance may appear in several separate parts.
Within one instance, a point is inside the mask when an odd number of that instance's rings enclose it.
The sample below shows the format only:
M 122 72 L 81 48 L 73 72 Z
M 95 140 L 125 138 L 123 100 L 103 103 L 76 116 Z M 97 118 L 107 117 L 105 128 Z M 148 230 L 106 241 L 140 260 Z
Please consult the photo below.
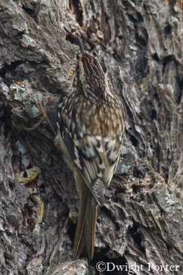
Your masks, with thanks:
M 64 29 L 66 27 L 66 29 Z M 56 104 L 75 68 L 76 31 L 126 111 L 121 160 L 99 211 L 95 258 L 73 261 L 77 192 L 33 98 Z M 183 274 L 182 1 L 0 1 L 0 272 Z M 148 270 L 180 265 L 178 272 Z M 103 274 L 129 274 L 124 271 Z

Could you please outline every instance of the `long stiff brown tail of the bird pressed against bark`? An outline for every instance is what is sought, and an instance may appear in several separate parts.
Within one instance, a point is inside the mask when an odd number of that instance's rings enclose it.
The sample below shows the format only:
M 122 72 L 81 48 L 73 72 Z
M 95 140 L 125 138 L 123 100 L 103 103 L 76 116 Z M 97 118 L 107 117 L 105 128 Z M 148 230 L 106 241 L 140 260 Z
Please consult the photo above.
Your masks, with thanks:
M 79 258 L 84 253 L 88 254 L 89 260 L 92 260 L 98 206 L 96 208 L 92 207 L 93 195 L 83 179 L 80 179 L 80 188 L 78 191 L 80 193 L 80 210 L 75 232 L 74 257 Z

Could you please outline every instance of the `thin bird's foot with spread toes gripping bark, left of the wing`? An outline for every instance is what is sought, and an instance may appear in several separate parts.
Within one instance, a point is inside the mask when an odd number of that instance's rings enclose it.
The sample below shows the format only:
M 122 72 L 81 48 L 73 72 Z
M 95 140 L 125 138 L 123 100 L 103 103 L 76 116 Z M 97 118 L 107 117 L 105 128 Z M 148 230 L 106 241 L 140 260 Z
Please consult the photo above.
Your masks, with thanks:
M 30 128 L 23 126 L 23 128 L 27 131 L 32 131 L 32 130 L 38 129 L 38 126 L 42 122 L 46 122 L 51 127 L 51 130 L 53 131 L 54 135 L 56 135 L 56 131 L 53 129 L 53 126 L 52 126 L 51 122 L 49 121 L 49 118 L 47 115 L 47 108 L 45 106 L 45 101 L 43 100 L 43 106 L 42 106 L 42 103 L 40 102 L 38 95 L 36 95 L 36 98 L 37 98 L 37 100 L 32 97 L 32 99 L 34 100 L 34 103 L 36 104 L 36 107 L 38 108 L 40 113 L 42 113 L 42 118 L 40 119 L 40 121 L 38 123 L 34 124 L 34 126 L 32 126 Z

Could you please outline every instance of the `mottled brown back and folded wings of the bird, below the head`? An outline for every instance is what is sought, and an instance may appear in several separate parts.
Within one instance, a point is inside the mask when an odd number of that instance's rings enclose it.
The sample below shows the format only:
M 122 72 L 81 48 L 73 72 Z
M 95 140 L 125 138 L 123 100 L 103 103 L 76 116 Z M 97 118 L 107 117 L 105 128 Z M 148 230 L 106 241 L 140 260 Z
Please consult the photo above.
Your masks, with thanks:
M 92 109 L 87 101 L 77 103 L 78 99 L 66 96 L 60 100 L 60 132 L 93 197 L 103 205 L 121 149 L 123 108 L 119 109 L 120 103 L 111 112 L 111 104 Z

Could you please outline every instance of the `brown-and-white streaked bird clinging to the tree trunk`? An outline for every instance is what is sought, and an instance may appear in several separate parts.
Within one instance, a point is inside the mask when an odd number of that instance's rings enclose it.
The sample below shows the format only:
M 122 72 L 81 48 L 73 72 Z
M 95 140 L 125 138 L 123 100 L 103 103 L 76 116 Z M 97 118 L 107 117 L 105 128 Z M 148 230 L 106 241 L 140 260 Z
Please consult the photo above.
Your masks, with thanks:
M 73 171 L 80 199 L 74 258 L 94 256 L 98 208 L 105 203 L 123 142 L 125 111 L 112 83 L 82 43 L 71 85 L 62 94 L 56 113 L 64 159 Z

